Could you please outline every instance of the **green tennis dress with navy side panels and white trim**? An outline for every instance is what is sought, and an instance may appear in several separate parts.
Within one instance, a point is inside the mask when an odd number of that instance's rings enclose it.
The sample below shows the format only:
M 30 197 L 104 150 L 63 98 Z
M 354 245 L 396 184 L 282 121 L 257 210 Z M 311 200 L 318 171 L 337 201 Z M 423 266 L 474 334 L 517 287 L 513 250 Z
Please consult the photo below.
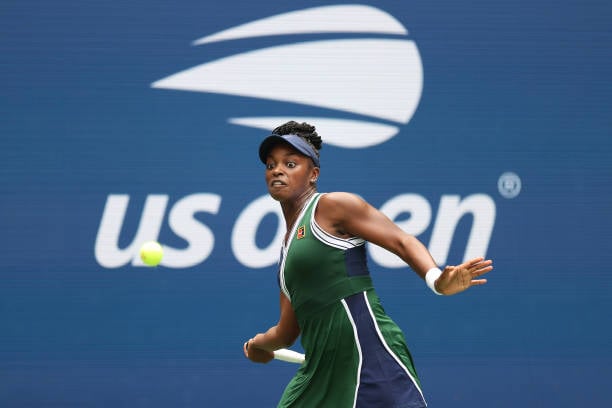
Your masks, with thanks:
M 306 354 L 278 407 L 426 407 L 399 327 L 372 286 L 361 238 L 321 229 L 315 194 L 283 246 L 279 285 Z

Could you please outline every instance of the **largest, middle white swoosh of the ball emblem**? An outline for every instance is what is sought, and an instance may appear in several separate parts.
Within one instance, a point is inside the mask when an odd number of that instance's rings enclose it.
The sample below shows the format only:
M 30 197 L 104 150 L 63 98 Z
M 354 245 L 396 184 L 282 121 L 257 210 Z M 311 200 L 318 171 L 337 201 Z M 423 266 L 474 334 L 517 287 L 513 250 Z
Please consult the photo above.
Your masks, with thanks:
M 407 123 L 420 100 L 422 82 L 414 42 L 343 39 L 232 55 L 168 76 L 152 87 L 294 102 Z

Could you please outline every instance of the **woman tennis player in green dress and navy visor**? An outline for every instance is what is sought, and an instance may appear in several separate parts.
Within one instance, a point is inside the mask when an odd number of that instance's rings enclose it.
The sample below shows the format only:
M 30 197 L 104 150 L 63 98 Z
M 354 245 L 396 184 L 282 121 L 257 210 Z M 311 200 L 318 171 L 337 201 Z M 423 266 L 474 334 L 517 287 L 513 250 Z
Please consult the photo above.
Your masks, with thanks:
M 437 268 L 426 247 L 355 194 L 317 192 L 321 137 L 288 122 L 259 147 L 270 195 L 287 226 L 278 281 L 278 323 L 249 339 L 245 355 L 266 363 L 301 336 L 306 361 L 279 407 L 426 407 L 400 328 L 381 306 L 365 243 L 406 262 L 437 294 L 486 283 L 492 261 L 476 258 Z

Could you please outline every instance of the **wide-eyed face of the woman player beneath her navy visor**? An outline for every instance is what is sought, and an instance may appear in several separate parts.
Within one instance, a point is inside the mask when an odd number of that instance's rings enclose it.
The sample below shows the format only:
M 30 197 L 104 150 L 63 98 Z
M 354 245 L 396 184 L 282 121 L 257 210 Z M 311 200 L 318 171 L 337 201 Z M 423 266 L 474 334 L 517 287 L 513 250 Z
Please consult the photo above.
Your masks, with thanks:
M 274 146 L 266 159 L 266 185 L 277 201 L 295 200 L 314 190 L 319 168 L 285 143 Z

